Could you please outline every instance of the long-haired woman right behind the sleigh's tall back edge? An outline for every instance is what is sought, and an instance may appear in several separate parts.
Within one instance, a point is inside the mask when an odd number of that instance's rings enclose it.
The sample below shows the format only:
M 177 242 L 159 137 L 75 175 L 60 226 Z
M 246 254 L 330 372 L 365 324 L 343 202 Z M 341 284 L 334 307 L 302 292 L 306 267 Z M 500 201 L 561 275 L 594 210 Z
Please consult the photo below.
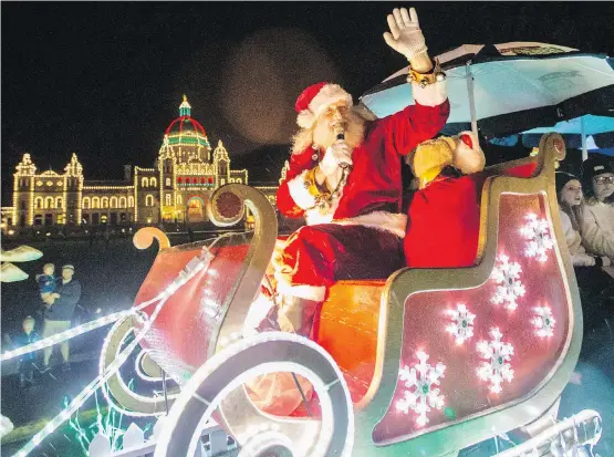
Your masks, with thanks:
M 555 173 L 556 199 L 561 215 L 561 226 L 565 235 L 568 250 L 574 267 L 608 267 L 610 258 L 591 256 L 582 245 L 582 222 L 586 211 L 580 179 L 565 172 Z M 576 276 L 577 276 L 576 270 Z M 579 278 L 580 279 L 580 278 Z

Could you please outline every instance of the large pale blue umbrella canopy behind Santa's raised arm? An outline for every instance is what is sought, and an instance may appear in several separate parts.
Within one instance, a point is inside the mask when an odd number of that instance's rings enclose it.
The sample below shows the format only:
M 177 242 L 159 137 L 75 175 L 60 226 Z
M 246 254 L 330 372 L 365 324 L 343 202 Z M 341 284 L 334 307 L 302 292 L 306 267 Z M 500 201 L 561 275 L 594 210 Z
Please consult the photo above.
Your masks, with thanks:
M 465 44 L 437 59 L 447 73 L 448 124 L 478 121 L 487 136 L 614 113 L 614 61 L 606 55 L 512 42 Z M 399 70 L 366 92 L 361 103 L 378 117 L 413 104 L 406 76 L 407 67 Z

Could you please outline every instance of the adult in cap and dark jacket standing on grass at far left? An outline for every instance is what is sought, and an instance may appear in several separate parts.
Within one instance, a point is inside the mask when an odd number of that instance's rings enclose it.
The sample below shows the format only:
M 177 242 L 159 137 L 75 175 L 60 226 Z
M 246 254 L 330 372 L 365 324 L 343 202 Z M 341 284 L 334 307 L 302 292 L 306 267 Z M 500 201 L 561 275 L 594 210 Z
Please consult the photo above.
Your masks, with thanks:
M 56 333 L 64 332 L 71 328 L 71 319 L 74 313 L 74 309 L 81 300 L 81 283 L 79 280 L 73 278 L 74 267 L 72 264 L 65 264 L 62 267 L 62 280 L 58 283 L 56 293 L 60 295 L 54 299 L 51 307 L 44 311 L 44 324 L 43 324 L 43 339 L 53 336 Z M 50 370 L 49 361 L 51 354 L 53 353 L 53 347 L 45 347 L 43 354 L 43 368 L 41 372 L 46 372 Z M 69 340 L 60 343 L 60 352 L 62 353 L 62 370 L 70 370 L 70 346 Z

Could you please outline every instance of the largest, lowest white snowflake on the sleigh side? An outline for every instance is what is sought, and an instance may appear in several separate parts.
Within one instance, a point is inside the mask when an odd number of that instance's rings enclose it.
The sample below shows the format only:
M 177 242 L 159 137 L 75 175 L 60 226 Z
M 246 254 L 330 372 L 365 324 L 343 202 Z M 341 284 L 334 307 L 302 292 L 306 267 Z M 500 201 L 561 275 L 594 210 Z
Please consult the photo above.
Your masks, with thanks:
M 405 414 L 408 414 L 409 409 L 418 413 L 416 424 L 423 427 L 428 424 L 426 414 L 430 412 L 431 407 L 437 409 L 444 407 L 444 395 L 440 394 L 438 387 L 434 386 L 439 385 L 446 365 L 441 362 L 437 363 L 436 366 L 429 365 L 426 362 L 428 354 L 423 351 L 419 351 L 416 355 L 420 363 L 414 365 L 412 370 L 405 366 L 399 372 L 398 376 L 400 381 L 405 382 L 407 391 L 404 391 L 404 397 L 396 403 L 396 408 Z

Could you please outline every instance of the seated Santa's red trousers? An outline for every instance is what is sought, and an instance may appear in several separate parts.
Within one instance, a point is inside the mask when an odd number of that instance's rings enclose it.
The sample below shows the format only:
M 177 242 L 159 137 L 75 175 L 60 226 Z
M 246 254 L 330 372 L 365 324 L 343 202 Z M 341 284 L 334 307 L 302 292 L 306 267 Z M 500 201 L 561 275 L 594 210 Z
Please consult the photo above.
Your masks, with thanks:
M 405 259 L 403 240 L 394 233 L 363 226 L 322 224 L 296 230 L 273 264 L 278 283 L 322 291 L 342 279 L 386 279 L 405 267 Z M 323 300 L 318 293 L 302 298 Z

